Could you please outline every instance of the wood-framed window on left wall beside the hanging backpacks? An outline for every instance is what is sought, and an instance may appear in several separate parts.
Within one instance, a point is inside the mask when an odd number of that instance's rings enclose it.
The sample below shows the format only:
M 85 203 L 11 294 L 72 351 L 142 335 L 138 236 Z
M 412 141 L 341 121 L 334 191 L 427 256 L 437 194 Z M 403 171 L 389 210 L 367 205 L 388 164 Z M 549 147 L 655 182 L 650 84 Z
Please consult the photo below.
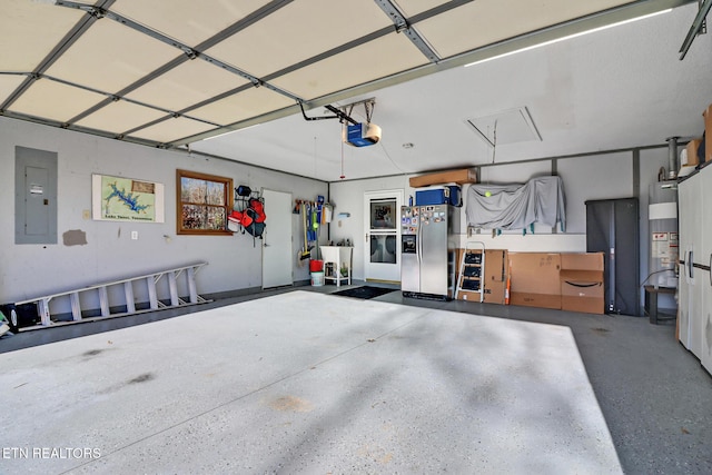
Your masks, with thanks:
M 233 236 L 227 217 L 233 211 L 233 179 L 176 170 L 179 235 Z

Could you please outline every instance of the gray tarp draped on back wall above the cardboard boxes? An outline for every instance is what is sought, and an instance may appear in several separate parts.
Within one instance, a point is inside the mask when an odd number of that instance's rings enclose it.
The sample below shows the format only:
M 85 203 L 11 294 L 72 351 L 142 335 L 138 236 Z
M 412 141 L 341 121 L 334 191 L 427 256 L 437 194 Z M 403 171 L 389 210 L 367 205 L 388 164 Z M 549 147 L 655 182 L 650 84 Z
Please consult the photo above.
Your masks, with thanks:
M 490 196 L 487 196 L 490 195 Z M 526 184 L 471 185 L 467 225 L 484 229 L 527 229 L 534 222 L 566 230 L 561 177 L 537 177 Z

